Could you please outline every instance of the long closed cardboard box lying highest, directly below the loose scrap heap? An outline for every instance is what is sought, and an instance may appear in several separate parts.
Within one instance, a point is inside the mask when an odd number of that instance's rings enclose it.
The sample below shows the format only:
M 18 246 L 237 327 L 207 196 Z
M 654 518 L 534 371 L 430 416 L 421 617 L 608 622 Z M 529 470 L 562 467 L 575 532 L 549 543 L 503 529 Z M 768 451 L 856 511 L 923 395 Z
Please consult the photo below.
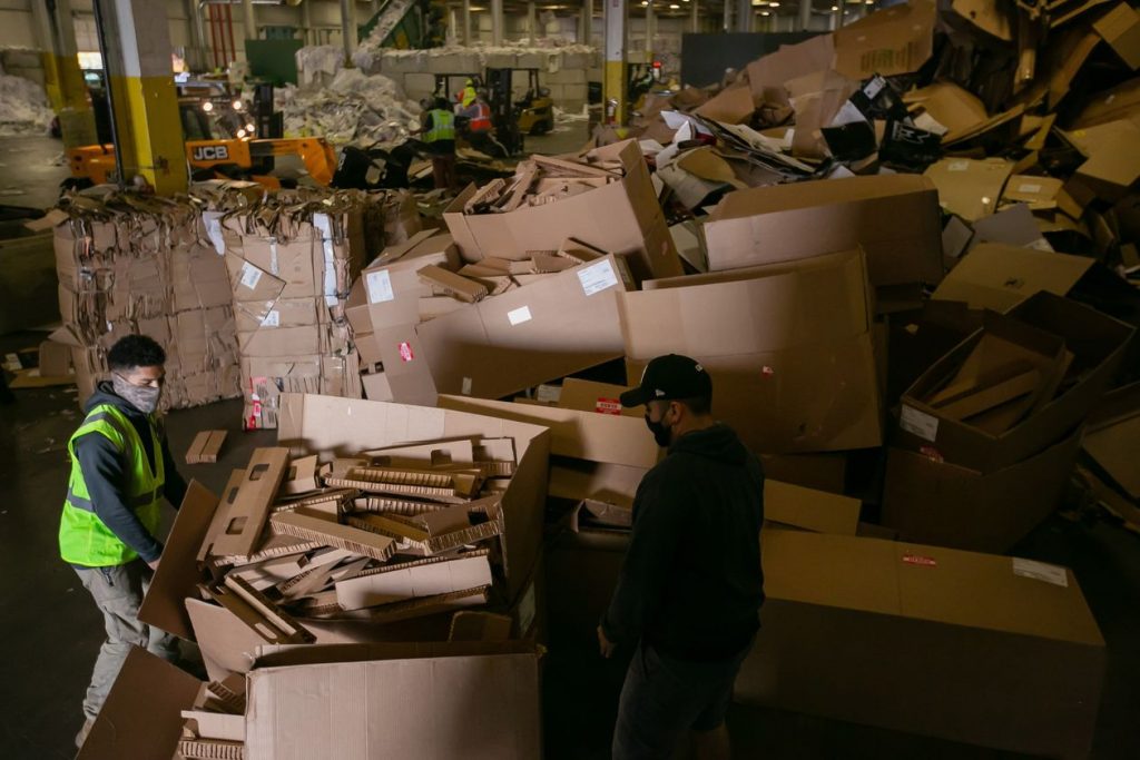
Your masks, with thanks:
M 921 177 L 856 177 L 730 193 L 703 230 L 711 271 L 861 246 L 876 287 L 942 279 L 938 197 Z

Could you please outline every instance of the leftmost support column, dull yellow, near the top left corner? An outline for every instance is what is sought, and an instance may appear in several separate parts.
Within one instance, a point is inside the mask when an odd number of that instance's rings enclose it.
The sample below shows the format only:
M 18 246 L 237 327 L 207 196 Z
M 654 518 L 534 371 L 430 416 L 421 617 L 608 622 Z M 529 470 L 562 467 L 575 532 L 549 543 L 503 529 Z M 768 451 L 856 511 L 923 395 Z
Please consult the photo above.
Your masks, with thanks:
M 95 145 L 99 137 L 95 130 L 95 113 L 88 103 L 87 83 L 79 68 L 71 0 L 56 0 L 54 5 L 51 8 L 42 0 L 32 3 L 42 47 L 44 89 L 51 108 L 59 116 L 64 147 Z

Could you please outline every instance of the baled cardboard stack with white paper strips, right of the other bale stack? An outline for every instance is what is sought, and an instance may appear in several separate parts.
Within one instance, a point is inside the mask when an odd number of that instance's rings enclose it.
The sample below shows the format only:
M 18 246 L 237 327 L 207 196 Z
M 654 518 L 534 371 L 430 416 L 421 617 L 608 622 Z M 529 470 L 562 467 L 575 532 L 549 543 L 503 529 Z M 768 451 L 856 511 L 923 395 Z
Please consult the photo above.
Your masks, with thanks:
M 375 198 L 282 191 L 209 215 L 229 270 L 246 428 L 276 427 L 282 393 L 360 398 L 344 302 L 377 239 L 365 229 Z

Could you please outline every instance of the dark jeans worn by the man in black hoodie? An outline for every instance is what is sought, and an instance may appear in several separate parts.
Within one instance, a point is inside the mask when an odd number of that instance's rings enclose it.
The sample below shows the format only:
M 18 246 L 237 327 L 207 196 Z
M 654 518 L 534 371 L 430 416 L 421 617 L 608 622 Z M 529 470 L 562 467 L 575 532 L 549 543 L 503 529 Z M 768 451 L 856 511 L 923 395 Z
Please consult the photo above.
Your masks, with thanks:
M 718 728 L 751 648 L 731 660 L 690 662 L 641 644 L 621 688 L 613 760 L 669 760 L 686 732 Z

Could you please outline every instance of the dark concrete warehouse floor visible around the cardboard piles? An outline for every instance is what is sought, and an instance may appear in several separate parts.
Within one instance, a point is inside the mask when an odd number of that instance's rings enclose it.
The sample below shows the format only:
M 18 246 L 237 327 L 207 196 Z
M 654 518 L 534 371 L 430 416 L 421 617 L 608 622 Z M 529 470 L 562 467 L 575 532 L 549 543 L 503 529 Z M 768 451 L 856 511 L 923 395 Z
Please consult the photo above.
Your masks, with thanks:
M 527 150 L 564 153 L 586 139 L 584 123 L 542 138 Z M 38 146 L 23 140 L 39 140 Z M 0 141 L 0 163 L 23 149 L 38 156 L 7 185 L 23 183 L 25 196 L 8 203 L 50 205 L 66 169 L 38 163 L 52 141 Z M 58 144 L 56 144 L 58 145 Z M 33 150 L 34 148 L 34 150 Z M 23 165 L 25 162 L 21 161 Z M 18 178 L 18 179 L 14 179 Z M 17 199 L 18 198 L 18 199 Z M 3 271 L 0 270 L 0 277 Z M 43 335 L 0 336 L 0 356 L 36 345 Z M 101 618 L 74 571 L 58 559 L 56 532 L 67 480 L 66 442 L 79 423 L 74 389 L 16 391 L 17 403 L 0 406 L 0 608 L 8 624 L 0 634 L 0 757 L 54 759 L 74 755 L 82 722 L 80 704 L 103 639 Z M 271 444 L 271 432 L 239 430 L 236 401 L 172 412 L 168 431 L 176 459 L 203 428 L 230 431 L 217 465 L 182 466 L 220 491 L 227 473 L 244 466 L 254 447 Z M 1102 523 L 1053 517 L 1015 551 L 1018 556 L 1068 565 L 1076 573 L 1108 643 L 1108 669 L 1092 757 L 1140 758 L 1140 539 Z M 556 599 L 551 599 L 556 604 Z M 552 631 L 544 676 L 547 757 L 586 760 L 609 757 L 617 695 L 625 663 L 596 655 L 593 640 L 565 640 Z M 898 758 L 999 759 L 1010 753 L 915 737 L 775 710 L 730 712 L 739 758 L 845 760 Z

